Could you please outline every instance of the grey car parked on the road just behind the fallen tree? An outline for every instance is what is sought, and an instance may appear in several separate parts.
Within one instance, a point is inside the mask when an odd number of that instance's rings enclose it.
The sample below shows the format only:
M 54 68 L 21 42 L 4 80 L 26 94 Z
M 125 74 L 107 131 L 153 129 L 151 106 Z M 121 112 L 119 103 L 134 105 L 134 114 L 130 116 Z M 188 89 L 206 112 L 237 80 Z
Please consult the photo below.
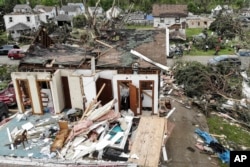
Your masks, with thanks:
M 241 66 L 241 60 L 237 55 L 220 55 L 208 60 L 208 65 L 210 66 L 217 66 L 222 64 L 229 66 Z

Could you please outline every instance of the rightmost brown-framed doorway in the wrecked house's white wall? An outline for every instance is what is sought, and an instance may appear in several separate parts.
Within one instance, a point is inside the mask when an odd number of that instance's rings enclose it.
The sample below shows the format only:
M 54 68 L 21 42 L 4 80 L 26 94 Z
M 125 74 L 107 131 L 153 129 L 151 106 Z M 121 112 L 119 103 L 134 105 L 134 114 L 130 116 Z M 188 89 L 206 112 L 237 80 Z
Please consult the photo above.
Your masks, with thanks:
M 154 114 L 154 81 L 140 81 L 140 114 L 142 112 L 150 112 Z

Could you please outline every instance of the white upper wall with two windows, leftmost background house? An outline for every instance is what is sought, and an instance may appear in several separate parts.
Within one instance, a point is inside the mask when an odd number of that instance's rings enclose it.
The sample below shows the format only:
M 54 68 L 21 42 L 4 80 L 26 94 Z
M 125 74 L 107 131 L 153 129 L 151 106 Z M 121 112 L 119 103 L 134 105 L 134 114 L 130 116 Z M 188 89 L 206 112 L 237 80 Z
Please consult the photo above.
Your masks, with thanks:
M 30 21 L 27 21 L 27 17 L 30 18 Z M 12 18 L 12 22 L 10 22 L 10 18 Z M 39 17 L 36 14 L 7 14 L 4 15 L 4 23 L 6 30 L 17 23 L 23 23 L 26 24 L 30 29 L 37 29 L 40 25 Z

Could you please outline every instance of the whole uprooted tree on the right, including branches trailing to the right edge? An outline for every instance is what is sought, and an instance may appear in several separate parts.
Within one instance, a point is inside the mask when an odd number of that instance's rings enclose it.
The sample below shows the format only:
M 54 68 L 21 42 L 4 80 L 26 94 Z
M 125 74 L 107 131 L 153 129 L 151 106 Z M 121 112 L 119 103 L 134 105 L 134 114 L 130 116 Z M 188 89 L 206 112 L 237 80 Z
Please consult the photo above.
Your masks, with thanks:
M 227 112 L 238 123 L 250 129 L 249 104 L 246 107 L 233 105 L 223 108 L 228 100 L 238 104 L 242 96 L 242 76 L 240 69 L 226 64 L 210 67 L 199 62 L 177 62 L 174 76 L 176 84 L 182 85 L 185 94 L 209 115 L 210 110 Z M 198 99 L 198 100 L 197 100 Z

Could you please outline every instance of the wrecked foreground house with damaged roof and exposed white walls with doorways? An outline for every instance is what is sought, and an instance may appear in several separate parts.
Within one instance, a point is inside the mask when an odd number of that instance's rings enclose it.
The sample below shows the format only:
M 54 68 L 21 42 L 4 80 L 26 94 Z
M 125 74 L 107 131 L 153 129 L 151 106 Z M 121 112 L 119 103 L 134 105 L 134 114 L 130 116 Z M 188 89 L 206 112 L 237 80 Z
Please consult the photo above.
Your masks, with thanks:
M 157 114 L 159 76 L 162 69 L 167 70 L 165 46 L 157 43 L 165 41 L 162 38 L 165 31 L 122 33 L 127 40 L 119 41 L 122 42 L 117 46 L 119 49 L 107 41 L 103 45 L 99 39 L 95 46 L 99 49 L 85 50 L 49 40 L 46 43 L 50 44 L 43 47 L 38 45 L 41 37 L 37 36 L 20 62 L 19 72 L 11 74 L 19 111 L 25 112 L 26 101 L 34 114 L 85 109 L 105 85 L 98 97 L 102 105 L 117 99 L 114 106 L 117 111 L 131 110 L 134 115 L 141 115 L 148 110 L 152 115 Z M 130 52 L 132 49 L 146 58 Z

